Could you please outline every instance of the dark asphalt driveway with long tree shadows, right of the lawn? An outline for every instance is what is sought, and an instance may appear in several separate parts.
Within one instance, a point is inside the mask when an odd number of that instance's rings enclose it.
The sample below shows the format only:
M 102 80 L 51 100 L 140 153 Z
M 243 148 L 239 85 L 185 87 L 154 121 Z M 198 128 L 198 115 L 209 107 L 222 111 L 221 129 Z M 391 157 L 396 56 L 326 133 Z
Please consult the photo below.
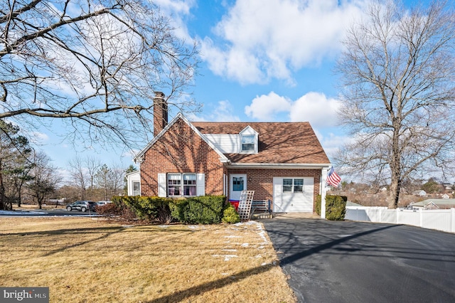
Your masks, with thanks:
M 299 302 L 455 302 L 455 234 L 314 218 L 261 222 Z

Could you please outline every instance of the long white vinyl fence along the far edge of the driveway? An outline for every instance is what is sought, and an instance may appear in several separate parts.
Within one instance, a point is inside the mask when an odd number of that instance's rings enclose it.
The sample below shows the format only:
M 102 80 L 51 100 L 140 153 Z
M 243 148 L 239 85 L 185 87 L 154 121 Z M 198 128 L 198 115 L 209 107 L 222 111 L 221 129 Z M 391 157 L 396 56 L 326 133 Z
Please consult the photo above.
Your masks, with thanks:
M 346 206 L 346 220 L 407 224 L 455 233 L 455 208 L 387 209 L 386 207 Z

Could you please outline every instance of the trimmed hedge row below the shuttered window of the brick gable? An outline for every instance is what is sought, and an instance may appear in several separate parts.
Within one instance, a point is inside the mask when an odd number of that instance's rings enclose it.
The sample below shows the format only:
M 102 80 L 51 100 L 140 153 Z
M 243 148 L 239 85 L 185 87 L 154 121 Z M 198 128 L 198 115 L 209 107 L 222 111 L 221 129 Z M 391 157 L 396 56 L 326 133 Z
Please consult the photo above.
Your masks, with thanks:
M 117 196 L 112 198 L 106 216 L 121 216 L 129 210 L 141 221 L 159 223 L 218 224 L 237 223 L 240 218 L 225 196 L 198 196 L 173 200 L 149 196 Z

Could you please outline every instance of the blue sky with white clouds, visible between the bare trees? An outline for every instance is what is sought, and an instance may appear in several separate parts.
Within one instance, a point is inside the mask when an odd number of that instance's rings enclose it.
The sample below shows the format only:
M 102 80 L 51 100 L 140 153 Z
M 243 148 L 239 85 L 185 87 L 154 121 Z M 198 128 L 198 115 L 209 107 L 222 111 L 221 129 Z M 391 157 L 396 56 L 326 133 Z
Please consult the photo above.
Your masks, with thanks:
M 203 103 L 193 120 L 299 122 L 314 127 L 329 158 L 348 139 L 336 127 L 340 105 L 333 67 L 348 25 L 365 0 L 156 0 L 176 35 L 200 48 L 191 87 Z M 171 119 L 172 117 L 170 117 Z M 38 133 L 41 148 L 65 170 L 76 156 L 70 142 Z M 132 154 L 93 146 L 78 156 L 108 165 L 132 164 Z

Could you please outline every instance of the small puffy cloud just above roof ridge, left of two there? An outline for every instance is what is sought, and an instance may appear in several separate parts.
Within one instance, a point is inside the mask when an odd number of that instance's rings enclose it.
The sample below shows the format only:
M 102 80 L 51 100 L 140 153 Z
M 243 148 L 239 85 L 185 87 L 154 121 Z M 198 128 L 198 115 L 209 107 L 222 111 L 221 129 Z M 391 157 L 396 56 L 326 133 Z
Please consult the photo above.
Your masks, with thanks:
M 289 112 L 291 100 L 269 92 L 269 95 L 261 95 L 252 100 L 251 105 L 245 107 L 245 114 L 248 117 L 262 121 L 272 121 L 279 112 Z

